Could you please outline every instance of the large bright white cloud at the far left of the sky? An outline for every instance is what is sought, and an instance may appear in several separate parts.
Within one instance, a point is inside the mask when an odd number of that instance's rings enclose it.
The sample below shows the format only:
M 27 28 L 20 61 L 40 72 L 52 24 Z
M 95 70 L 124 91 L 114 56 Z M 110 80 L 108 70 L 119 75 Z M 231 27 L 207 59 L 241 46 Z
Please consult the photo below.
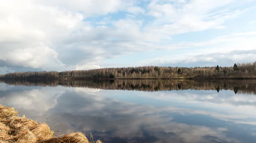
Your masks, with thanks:
M 64 69 L 65 64 L 58 59 L 52 45 L 76 27 L 82 20 L 81 14 L 59 11 L 28 0 L 6 1 L 0 9 L 4 13 L 0 15 L 0 33 L 5 33 L 0 35 L 0 59 L 11 66 Z

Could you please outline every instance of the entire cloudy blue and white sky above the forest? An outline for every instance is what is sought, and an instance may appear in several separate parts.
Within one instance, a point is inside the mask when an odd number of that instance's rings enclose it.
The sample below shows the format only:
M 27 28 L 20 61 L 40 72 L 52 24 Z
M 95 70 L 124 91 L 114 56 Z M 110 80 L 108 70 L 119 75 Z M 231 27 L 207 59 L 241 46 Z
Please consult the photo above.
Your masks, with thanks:
M 0 0 L 0 74 L 256 61 L 256 0 Z

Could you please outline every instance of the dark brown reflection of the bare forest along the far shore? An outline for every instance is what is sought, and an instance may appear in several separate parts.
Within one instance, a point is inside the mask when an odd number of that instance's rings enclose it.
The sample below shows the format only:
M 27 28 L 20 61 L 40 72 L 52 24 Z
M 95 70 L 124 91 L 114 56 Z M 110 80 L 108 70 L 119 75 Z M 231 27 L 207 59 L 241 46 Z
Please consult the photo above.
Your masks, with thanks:
M 165 91 L 165 90 L 233 90 L 236 94 L 256 94 L 255 80 L 47 80 L 47 81 L 1 81 L 9 85 L 23 86 L 64 86 L 88 87 L 102 90 L 136 90 L 136 91 Z

